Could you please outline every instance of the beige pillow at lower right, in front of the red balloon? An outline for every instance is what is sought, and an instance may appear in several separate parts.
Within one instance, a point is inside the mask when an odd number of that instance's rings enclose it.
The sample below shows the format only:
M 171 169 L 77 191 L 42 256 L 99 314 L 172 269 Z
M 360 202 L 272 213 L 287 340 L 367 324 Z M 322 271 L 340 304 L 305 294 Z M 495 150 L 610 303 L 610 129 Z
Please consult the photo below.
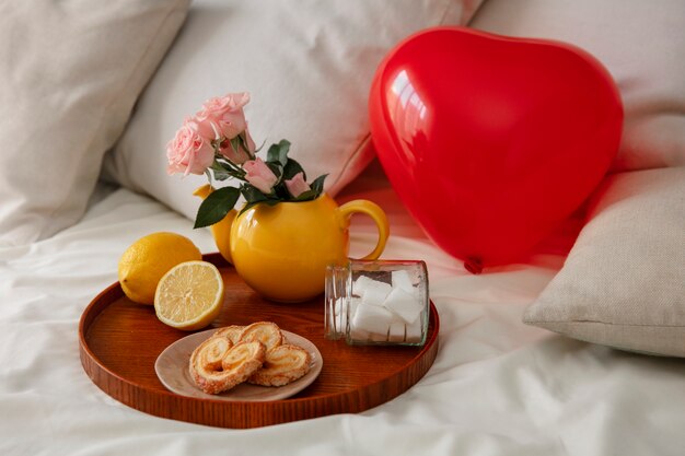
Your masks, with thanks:
M 685 356 L 685 168 L 609 176 L 564 268 L 524 323 Z

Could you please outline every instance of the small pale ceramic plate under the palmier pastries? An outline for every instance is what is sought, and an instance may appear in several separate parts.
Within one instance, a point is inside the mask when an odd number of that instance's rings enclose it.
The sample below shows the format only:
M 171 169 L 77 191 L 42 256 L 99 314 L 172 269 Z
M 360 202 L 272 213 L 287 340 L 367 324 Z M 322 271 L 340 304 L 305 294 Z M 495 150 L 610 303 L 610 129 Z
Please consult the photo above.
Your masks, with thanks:
M 218 395 L 208 395 L 195 386 L 193 378 L 190 378 L 190 373 L 188 372 L 188 363 L 190 362 L 193 351 L 216 331 L 217 328 L 186 336 L 175 341 L 160 353 L 154 363 L 154 371 L 166 389 L 182 396 L 199 399 L 219 399 L 227 401 L 280 400 L 295 395 L 310 386 L 312 382 L 316 379 L 324 365 L 321 353 L 314 343 L 302 336 L 281 330 L 288 343 L 300 346 L 310 353 L 312 356 L 310 372 L 303 377 L 285 386 L 258 386 L 242 383 L 228 391 Z

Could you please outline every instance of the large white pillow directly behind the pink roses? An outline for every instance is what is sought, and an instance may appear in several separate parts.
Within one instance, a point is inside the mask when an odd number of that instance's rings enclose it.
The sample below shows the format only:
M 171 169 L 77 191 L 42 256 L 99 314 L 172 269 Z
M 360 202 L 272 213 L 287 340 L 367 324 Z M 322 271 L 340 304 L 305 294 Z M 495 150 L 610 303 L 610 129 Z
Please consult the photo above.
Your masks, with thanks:
M 480 1 L 198 0 L 141 97 L 104 176 L 194 219 L 205 176 L 166 175 L 165 145 L 185 116 L 229 92 L 249 92 L 252 137 L 281 139 L 311 179 L 335 195 L 368 164 L 368 94 L 384 55 L 407 35 L 465 24 Z

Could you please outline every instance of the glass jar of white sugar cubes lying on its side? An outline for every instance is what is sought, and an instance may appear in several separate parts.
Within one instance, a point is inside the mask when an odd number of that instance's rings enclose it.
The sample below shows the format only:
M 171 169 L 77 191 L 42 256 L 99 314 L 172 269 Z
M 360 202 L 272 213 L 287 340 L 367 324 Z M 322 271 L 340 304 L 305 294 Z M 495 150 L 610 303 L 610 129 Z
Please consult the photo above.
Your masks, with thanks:
M 326 269 L 327 339 L 349 344 L 422 346 L 428 334 L 428 270 L 415 260 L 350 260 Z

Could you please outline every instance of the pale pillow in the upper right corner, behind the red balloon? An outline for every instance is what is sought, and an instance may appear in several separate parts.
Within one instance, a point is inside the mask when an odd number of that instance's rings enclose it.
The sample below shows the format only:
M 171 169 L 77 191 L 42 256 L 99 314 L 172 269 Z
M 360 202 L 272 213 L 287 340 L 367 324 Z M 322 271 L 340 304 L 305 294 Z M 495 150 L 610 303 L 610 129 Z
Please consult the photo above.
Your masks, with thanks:
M 626 114 L 614 171 L 685 165 L 685 1 L 488 0 L 471 25 L 572 43 L 606 66 Z

